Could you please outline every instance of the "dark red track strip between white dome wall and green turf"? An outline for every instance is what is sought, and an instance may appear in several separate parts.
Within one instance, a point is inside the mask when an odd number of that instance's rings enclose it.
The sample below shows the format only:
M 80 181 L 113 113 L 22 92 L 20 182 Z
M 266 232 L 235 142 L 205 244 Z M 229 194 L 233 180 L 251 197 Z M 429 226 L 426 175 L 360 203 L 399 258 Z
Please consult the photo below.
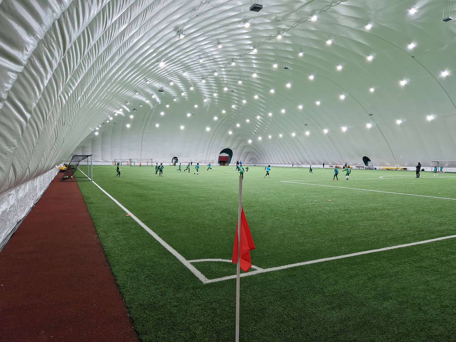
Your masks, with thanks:
M 60 178 L 0 252 L 0 341 L 137 341 L 79 187 Z

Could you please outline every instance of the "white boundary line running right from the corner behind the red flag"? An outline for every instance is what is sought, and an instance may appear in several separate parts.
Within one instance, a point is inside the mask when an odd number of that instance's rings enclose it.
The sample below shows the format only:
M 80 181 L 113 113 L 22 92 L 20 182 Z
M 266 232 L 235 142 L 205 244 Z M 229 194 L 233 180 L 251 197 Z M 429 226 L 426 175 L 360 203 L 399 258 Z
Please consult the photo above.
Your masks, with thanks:
M 432 238 L 430 240 L 425 240 L 425 241 L 419 241 L 419 242 L 412 242 L 410 244 L 400 244 L 397 246 L 391 246 L 391 247 L 384 247 L 384 248 L 379 248 L 379 249 L 371 249 L 367 250 L 364 252 L 357 252 L 357 253 L 351 253 L 351 254 L 344 254 L 344 255 L 339 255 L 331 258 L 323 258 L 323 259 L 316 259 L 316 260 L 310 260 L 310 261 L 305 261 L 302 263 L 296 263 L 296 264 L 289 264 L 289 265 L 284 265 L 284 266 L 277 266 L 277 267 L 270 267 L 267 269 L 258 269 L 252 272 L 247 272 L 247 273 L 242 273 L 241 277 L 247 277 L 249 275 L 257 275 L 259 273 L 266 273 L 266 272 L 272 272 L 272 271 L 278 271 L 280 269 L 289 269 L 291 267 L 298 267 L 298 266 L 304 266 L 304 265 L 309 265 L 309 264 L 316 264 L 316 263 L 321 263 L 323 261 L 329 261 L 329 260 L 336 260 L 336 259 L 343 259 L 343 258 L 349 258 L 352 256 L 357 256 L 357 255 L 363 255 L 363 254 L 369 254 L 369 253 L 375 253 L 375 252 L 383 252 L 385 250 L 390 250 L 390 249 L 397 249 L 397 248 L 402 248 L 402 247 L 409 247 L 409 246 L 414 246 L 417 244 L 427 244 L 428 242 L 434 242 L 434 241 L 439 241 L 439 240 L 445 240 L 447 238 L 456 238 L 456 235 L 450 235 L 450 236 L 444 236 L 442 238 Z M 229 280 L 229 279 L 235 279 L 236 275 L 228 275 L 226 277 L 221 277 L 221 278 L 215 278 L 215 279 L 209 279 L 207 280 L 207 283 L 215 283 L 218 281 L 223 281 L 223 280 Z

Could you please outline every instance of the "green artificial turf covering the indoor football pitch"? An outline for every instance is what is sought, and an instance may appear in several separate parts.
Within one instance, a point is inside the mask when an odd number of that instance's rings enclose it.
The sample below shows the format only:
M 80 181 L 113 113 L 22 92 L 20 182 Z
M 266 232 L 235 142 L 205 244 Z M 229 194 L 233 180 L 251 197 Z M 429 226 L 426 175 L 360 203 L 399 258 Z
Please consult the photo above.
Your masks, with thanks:
M 238 172 L 94 166 L 94 181 L 187 260 L 231 259 Z M 227 171 L 227 173 L 225 173 Z M 456 174 L 250 167 L 243 206 L 261 268 L 456 234 Z M 385 176 L 383 179 L 380 176 Z M 308 184 L 330 185 L 333 187 Z M 141 341 L 233 341 L 235 280 L 202 284 L 91 182 L 79 182 Z M 340 187 L 431 197 L 369 192 Z M 440 193 L 440 194 L 439 194 Z M 332 200 L 332 201 L 328 201 Z M 241 341 L 454 341 L 451 238 L 241 278 Z M 193 264 L 207 278 L 236 265 Z M 241 271 L 242 272 L 242 271 Z

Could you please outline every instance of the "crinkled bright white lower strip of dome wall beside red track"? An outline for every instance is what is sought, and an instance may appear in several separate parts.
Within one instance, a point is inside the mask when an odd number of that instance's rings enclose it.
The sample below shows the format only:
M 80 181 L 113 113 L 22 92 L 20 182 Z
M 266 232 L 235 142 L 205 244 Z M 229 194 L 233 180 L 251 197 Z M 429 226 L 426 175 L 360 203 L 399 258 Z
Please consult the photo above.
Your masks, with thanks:
M 0 195 L 0 251 L 58 173 L 58 167 Z

